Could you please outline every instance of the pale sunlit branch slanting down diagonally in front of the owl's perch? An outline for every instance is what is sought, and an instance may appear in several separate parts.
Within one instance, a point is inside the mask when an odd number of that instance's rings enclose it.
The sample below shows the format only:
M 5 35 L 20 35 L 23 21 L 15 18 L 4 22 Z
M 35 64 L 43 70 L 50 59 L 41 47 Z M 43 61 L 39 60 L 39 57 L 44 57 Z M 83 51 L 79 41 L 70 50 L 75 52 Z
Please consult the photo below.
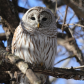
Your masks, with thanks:
M 41 80 L 39 80 L 35 76 L 31 69 L 28 69 L 28 64 L 25 63 L 24 60 L 20 59 L 18 56 L 14 56 L 11 53 L 3 50 L 3 48 L 0 48 L 0 57 L 9 59 L 12 64 L 15 64 L 21 70 L 22 73 L 26 74 L 27 78 L 32 84 L 41 84 Z

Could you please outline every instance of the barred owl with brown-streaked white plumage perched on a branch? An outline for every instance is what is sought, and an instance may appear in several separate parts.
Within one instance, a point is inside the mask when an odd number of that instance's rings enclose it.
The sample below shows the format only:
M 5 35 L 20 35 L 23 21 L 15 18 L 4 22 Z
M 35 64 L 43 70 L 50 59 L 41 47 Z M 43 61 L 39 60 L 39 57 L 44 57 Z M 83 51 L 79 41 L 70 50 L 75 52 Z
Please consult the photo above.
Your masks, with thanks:
M 57 53 L 56 35 L 53 13 L 44 7 L 33 7 L 24 14 L 15 30 L 12 53 L 31 64 L 43 63 L 45 68 L 52 68 Z

